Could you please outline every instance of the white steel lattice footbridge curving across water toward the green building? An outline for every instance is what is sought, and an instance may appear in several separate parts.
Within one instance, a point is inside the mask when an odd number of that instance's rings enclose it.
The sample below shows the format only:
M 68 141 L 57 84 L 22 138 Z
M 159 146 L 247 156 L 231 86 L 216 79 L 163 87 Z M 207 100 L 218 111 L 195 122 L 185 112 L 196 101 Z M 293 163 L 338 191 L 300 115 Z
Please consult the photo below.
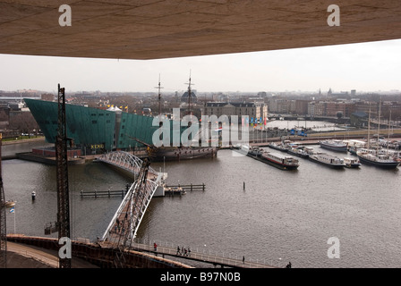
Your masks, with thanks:
M 123 256 L 124 249 L 131 248 L 155 191 L 163 188 L 161 182 L 164 174 L 153 170 L 148 159 L 141 160 L 124 151 L 107 153 L 100 156 L 98 161 L 132 172 L 135 177 L 101 239 L 105 247 L 118 248 Z M 117 260 L 118 265 L 124 265 L 121 257 Z

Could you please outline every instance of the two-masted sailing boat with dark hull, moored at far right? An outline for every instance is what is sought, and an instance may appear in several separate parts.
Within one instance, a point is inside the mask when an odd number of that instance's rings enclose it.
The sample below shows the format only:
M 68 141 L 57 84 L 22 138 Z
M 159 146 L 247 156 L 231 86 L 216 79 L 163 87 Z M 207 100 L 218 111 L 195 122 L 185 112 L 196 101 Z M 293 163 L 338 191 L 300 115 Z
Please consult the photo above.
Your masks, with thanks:
M 381 102 L 380 102 L 381 105 Z M 380 105 L 379 105 L 379 129 L 380 129 Z M 387 153 L 379 152 L 379 149 L 370 148 L 370 133 L 371 133 L 371 108 L 369 108 L 369 119 L 368 119 L 368 146 L 367 148 L 361 148 L 356 151 L 356 156 L 358 156 L 362 164 L 371 164 L 382 169 L 396 169 L 400 164 L 396 158 L 389 156 Z M 380 132 L 378 131 L 378 140 Z

